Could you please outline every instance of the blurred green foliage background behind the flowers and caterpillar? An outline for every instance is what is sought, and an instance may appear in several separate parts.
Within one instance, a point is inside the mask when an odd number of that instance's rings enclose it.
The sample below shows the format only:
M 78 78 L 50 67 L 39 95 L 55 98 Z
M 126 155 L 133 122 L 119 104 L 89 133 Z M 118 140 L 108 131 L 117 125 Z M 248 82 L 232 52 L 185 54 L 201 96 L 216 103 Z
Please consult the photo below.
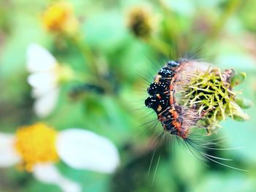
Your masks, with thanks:
M 157 145 L 148 174 L 156 134 L 148 131 L 154 123 L 147 122 L 156 117 L 143 104 L 147 80 L 153 80 L 167 59 L 186 57 L 246 72 L 246 81 L 236 90 L 256 103 L 256 1 L 69 1 L 80 23 L 79 43 L 89 48 L 94 64 L 83 58 L 72 38 L 42 27 L 42 14 L 52 2 L 0 1 L 0 131 L 14 133 L 20 126 L 44 121 L 57 130 L 85 128 L 111 139 L 121 155 L 121 166 L 114 174 L 58 165 L 83 185 L 83 191 L 256 191 L 255 107 L 246 110 L 249 121 L 226 120 L 217 132 L 217 137 L 225 138 L 225 147 L 242 148 L 214 151 L 214 155 L 233 158 L 230 165 L 248 172 L 212 162 L 206 166 L 182 145 L 174 150 Z M 136 34 L 130 27 L 133 7 L 146 9 L 152 18 L 146 33 Z M 37 118 L 26 81 L 26 47 L 31 42 L 47 47 L 61 64 L 69 64 L 85 79 L 91 78 L 90 65 L 102 69 L 92 81 L 99 86 L 103 81 L 108 88 L 97 93 L 79 90 L 80 82 L 65 83 L 54 112 Z M 156 129 L 161 131 L 160 126 Z M 0 169 L 0 191 L 59 188 L 12 167 Z

